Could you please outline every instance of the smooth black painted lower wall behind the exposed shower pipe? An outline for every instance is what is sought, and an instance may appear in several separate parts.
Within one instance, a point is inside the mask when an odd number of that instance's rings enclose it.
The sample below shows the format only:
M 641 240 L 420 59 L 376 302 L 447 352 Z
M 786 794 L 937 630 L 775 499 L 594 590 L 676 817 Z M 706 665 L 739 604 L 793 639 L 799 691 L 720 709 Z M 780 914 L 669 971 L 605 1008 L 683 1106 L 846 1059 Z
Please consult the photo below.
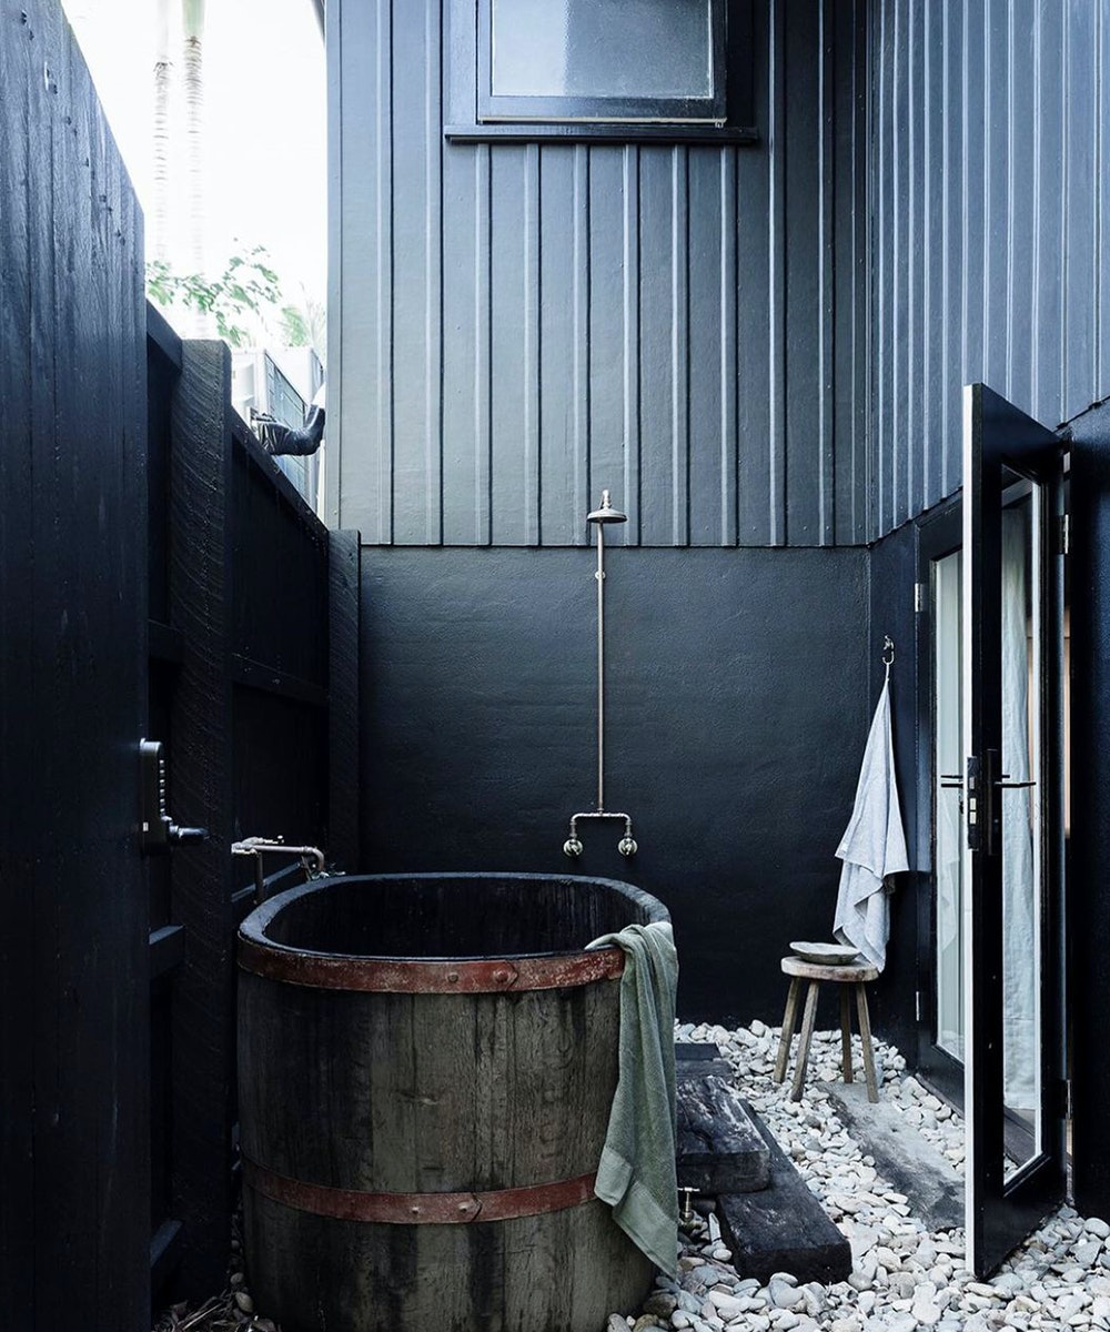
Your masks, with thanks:
M 588 823 L 577 868 L 670 907 L 690 1019 L 781 1020 L 786 944 L 830 935 L 871 709 L 866 561 L 609 551 L 606 806 L 640 851 Z M 592 553 L 366 549 L 362 569 L 366 867 L 572 870 L 596 795 Z

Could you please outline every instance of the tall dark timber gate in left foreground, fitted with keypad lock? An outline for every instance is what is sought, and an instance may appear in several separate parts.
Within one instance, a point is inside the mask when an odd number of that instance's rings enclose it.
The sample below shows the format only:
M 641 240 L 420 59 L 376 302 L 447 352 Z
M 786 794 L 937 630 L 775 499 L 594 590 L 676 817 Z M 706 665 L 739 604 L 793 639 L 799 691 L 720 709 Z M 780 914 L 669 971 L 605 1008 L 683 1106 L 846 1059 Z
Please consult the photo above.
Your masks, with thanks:
M 143 221 L 61 8 L 0 4 L 0 1304 L 149 1315 Z

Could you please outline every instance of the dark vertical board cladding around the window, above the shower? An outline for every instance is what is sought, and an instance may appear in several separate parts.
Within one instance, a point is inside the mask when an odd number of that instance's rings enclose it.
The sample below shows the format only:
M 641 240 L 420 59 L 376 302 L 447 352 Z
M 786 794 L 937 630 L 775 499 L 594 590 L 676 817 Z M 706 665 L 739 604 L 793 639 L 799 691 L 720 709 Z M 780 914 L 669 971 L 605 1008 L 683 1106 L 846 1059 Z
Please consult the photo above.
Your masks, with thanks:
M 863 539 L 865 5 L 802 8 L 756 5 L 738 147 L 446 140 L 468 0 L 329 5 L 334 522 L 581 545 L 608 488 L 629 545 Z

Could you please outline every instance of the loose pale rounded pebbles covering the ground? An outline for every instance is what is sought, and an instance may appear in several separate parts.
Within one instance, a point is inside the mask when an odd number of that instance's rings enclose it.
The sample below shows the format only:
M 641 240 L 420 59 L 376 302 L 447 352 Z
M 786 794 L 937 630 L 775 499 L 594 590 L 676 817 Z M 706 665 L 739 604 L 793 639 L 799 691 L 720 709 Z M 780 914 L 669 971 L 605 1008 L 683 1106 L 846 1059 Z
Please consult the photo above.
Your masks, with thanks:
M 824 1082 L 839 1078 L 839 1032 L 817 1032 L 801 1102 L 770 1080 L 778 1028 L 680 1024 L 678 1040 L 716 1042 L 736 1070 L 741 1094 L 851 1244 L 853 1273 L 837 1285 L 798 1284 L 790 1272 L 768 1285 L 741 1277 L 732 1255 L 697 1217 L 680 1236 L 676 1281 L 660 1276 L 642 1311 L 613 1313 L 598 1332 L 991 1332 L 994 1328 L 1110 1329 L 1110 1225 L 1065 1207 L 990 1281 L 963 1267 L 963 1232 L 930 1233 L 905 1195 L 837 1119 Z M 858 1038 L 857 1060 L 858 1060 Z M 875 1042 L 883 1100 L 905 1114 L 962 1172 L 963 1122 L 913 1076 L 890 1046 Z M 177 1305 L 156 1332 L 280 1332 L 256 1311 L 232 1240 L 229 1284 L 200 1309 Z

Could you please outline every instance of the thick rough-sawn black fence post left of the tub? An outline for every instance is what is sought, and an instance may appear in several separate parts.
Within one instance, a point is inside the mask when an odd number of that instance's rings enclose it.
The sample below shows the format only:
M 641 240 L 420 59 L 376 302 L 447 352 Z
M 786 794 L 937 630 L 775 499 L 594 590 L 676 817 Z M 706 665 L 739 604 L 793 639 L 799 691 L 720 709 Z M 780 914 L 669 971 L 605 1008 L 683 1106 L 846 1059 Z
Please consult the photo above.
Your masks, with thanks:
M 187 1217 L 179 1280 L 221 1279 L 217 1236 L 231 1212 L 233 864 L 231 357 L 223 342 L 185 342 L 173 397 L 169 585 L 184 661 L 173 694 L 175 815 L 209 831 L 173 852 L 173 919 L 188 938 L 173 995 L 175 1216 Z M 237 868 L 237 866 L 235 866 Z

